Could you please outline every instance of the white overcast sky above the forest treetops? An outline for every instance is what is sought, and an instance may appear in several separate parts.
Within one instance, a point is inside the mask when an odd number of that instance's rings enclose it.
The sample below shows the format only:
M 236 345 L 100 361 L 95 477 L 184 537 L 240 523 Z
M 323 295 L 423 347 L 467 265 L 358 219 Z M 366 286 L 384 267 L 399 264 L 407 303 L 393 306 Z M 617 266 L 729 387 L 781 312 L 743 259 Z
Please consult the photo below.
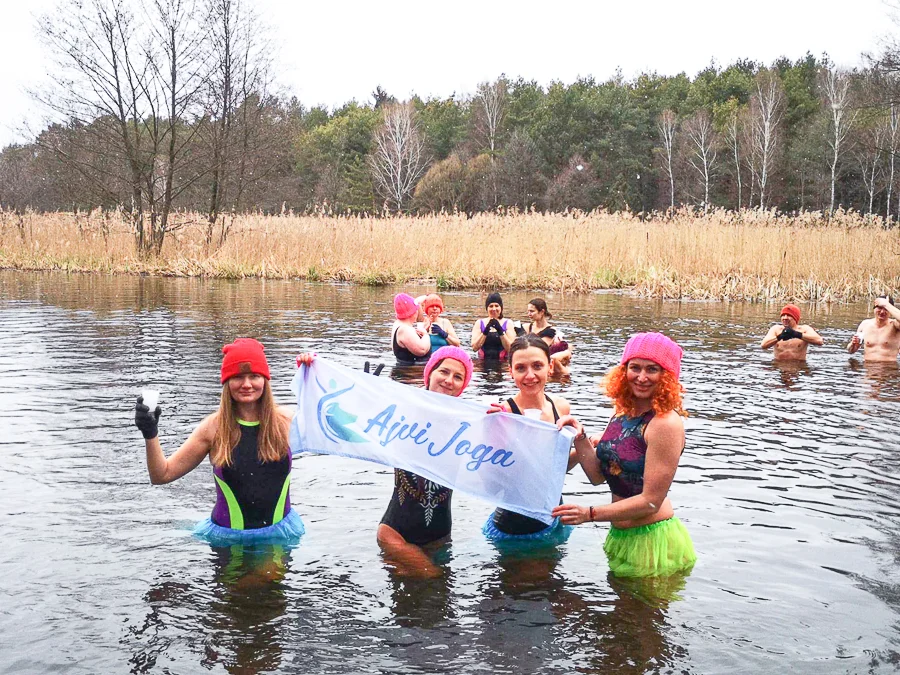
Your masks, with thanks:
M 36 17 L 57 0 L 0 0 L 0 145 L 39 125 L 25 89 L 46 76 Z M 693 76 L 712 60 L 771 63 L 807 51 L 857 66 L 900 35 L 883 0 L 455 0 L 255 4 L 278 48 L 280 86 L 306 106 L 470 94 L 501 73 L 542 84 L 655 71 Z

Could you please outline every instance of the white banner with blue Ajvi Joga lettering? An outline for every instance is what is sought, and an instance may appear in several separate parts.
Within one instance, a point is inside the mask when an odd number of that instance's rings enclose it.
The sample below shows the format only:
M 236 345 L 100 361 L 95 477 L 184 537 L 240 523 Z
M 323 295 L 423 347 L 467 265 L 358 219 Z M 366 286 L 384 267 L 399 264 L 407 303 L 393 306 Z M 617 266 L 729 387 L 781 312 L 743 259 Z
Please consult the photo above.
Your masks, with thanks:
M 316 358 L 291 382 L 291 451 L 412 471 L 547 524 L 559 504 L 572 432 L 540 420 L 374 377 Z

